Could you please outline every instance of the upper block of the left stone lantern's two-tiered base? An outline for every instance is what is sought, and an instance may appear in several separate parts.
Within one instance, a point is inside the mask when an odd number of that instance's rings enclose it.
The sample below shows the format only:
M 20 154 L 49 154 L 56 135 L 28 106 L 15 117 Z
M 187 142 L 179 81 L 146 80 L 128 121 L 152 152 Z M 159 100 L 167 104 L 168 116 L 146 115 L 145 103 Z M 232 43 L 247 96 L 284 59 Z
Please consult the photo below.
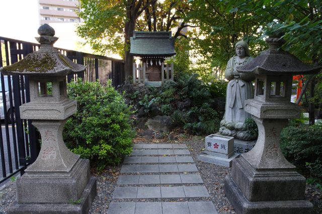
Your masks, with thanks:
M 68 173 L 26 172 L 17 180 L 18 203 L 68 203 L 78 200 L 90 179 L 90 161 L 79 159 Z

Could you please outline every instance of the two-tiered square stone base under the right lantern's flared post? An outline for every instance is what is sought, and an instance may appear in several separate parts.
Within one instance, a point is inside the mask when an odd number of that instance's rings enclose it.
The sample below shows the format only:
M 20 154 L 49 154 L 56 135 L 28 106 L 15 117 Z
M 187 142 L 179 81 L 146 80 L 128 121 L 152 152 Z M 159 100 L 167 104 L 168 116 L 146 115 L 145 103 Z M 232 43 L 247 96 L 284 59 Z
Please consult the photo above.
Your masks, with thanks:
M 256 170 L 243 157 L 232 161 L 224 193 L 237 213 L 309 213 L 304 200 L 305 178 L 294 169 Z

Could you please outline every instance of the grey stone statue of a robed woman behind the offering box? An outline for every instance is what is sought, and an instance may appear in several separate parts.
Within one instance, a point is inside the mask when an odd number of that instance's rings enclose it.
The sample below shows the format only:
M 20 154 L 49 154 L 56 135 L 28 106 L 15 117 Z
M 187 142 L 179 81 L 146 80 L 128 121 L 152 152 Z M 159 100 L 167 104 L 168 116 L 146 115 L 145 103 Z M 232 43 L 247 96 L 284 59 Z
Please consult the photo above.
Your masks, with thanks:
M 225 70 L 225 78 L 229 80 L 226 90 L 225 115 L 220 122 L 220 134 L 241 140 L 254 140 L 257 136 L 248 132 L 245 120 L 251 115 L 245 112 L 245 100 L 254 98 L 252 81 L 254 74 L 242 74 L 236 71 L 237 66 L 251 61 L 247 42 L 239 41 L 235 45 L 235 56 L 231 57 Z

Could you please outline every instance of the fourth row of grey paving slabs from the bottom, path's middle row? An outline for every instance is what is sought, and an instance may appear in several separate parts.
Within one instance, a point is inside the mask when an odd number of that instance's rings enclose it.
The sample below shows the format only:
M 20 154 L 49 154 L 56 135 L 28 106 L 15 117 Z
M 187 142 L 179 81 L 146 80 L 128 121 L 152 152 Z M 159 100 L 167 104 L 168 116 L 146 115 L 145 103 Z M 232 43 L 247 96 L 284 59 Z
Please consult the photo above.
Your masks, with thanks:
M 121 173 L 153 173 L 153 172 L 198 172 L 196 164 L 136 164 L 123 165 Z

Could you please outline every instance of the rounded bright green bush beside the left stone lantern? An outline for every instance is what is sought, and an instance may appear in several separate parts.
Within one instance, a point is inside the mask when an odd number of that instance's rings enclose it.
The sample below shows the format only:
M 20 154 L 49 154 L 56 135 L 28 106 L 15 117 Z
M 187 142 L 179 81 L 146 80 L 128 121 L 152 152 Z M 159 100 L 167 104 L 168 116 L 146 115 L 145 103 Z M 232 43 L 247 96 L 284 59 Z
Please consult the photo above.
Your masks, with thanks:
M 70 82 L 68 96 L 77 101 L 77 113 L 64 127 L 64 142 L 72 152 L 96 162 L 99 169 L 106 164 L 118 164 L 132 151 L 134 132 L 130 107 L 109 84 Z

